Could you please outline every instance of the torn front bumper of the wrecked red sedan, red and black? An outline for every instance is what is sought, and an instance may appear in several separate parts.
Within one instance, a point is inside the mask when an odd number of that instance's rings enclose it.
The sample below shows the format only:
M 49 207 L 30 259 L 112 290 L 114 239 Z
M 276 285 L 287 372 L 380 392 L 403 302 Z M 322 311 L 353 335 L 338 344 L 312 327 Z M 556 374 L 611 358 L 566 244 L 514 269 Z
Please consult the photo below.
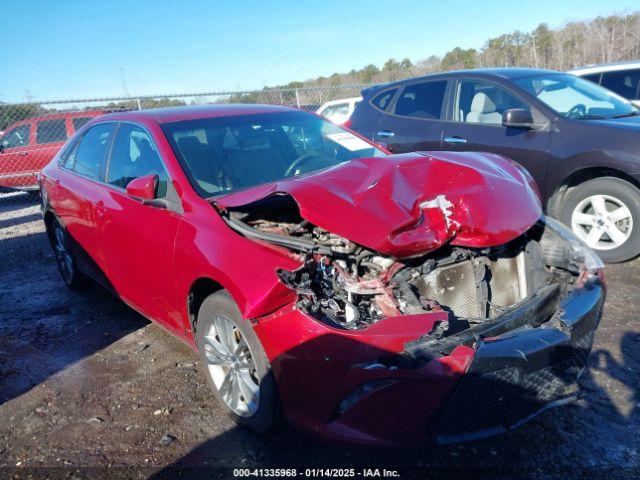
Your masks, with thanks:
M 571 398 L 604 298 L 595 276 L 569 294 L 549 288 L 464 341 L 434 341 L 446 312 L 344 331 L 288 306 L 254 329 L 292 424 L 350 443 L 457 442 L 515 428 Z

